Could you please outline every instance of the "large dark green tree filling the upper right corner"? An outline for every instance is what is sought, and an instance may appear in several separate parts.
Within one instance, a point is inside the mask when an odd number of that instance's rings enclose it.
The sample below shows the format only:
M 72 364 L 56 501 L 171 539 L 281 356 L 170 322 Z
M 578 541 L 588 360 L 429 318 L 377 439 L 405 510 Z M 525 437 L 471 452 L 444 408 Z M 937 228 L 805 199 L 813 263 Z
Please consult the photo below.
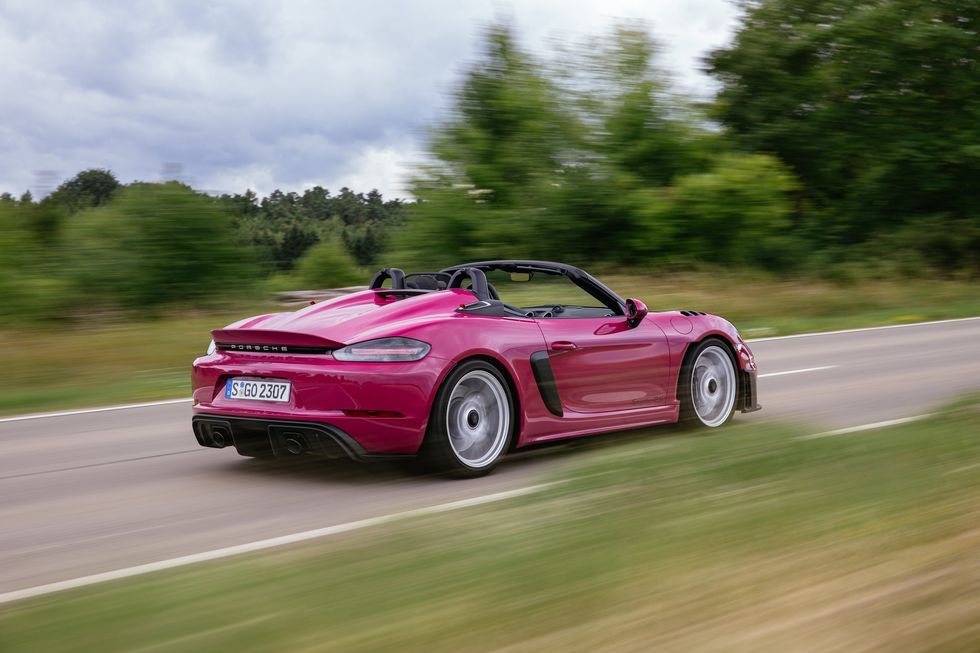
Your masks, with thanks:
M 773 152 L 850 244 L 918 216 L 980 220 L 980 3 L 761 0 L 708 60 L 713 108 Z M 934 259 L 934 262 L 939 262 Z

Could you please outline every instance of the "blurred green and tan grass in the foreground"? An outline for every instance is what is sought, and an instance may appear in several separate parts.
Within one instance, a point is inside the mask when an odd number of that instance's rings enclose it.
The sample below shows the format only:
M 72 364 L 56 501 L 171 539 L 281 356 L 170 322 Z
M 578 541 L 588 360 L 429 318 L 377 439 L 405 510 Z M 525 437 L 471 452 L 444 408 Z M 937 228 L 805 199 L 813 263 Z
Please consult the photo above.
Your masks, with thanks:
M 532 496 L 6 606 L 0 650 L 980 650 L 978 401 L 602 438 Z

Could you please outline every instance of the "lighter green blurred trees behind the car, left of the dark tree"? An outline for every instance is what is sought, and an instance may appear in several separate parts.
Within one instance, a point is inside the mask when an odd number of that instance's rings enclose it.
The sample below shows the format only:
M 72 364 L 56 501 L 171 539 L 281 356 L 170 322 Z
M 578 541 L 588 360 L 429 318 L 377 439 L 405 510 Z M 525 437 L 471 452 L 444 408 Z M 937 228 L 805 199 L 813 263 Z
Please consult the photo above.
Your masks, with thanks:
M 487 32 L 433 132 L 435 163 L 414 184 L 394 260 L 788 266 L 775 250 L 796 248 L 793 175 L 728 154 L 669 93 L 645 31 L 621 25 L 566 54 L 549 66 L 506 26 Z

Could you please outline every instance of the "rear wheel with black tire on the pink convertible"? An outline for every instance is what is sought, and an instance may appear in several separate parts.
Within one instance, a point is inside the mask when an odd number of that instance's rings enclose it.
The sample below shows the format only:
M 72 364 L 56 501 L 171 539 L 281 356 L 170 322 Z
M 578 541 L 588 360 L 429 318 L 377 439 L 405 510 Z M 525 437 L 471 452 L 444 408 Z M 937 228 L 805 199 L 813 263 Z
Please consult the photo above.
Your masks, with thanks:
M 489 474 L 510 448 L 515 423 L 507 379 L 489 363 L 464 361 L 439 388 L 419 458 L 428 470 L 451 476 Z

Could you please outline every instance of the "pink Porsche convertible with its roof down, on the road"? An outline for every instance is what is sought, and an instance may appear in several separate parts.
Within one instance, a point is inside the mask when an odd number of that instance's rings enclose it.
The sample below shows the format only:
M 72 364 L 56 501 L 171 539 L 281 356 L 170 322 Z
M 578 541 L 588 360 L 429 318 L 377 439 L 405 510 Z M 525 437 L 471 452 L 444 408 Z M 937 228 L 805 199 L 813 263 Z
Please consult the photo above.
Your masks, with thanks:
M 478 476 L 518 447 L 759 409 L 731 323 L 648 313 L 561 263 L 385 268 L 368 290 L 211 334 L 194 434 L 244 456 L 415 456 Z

